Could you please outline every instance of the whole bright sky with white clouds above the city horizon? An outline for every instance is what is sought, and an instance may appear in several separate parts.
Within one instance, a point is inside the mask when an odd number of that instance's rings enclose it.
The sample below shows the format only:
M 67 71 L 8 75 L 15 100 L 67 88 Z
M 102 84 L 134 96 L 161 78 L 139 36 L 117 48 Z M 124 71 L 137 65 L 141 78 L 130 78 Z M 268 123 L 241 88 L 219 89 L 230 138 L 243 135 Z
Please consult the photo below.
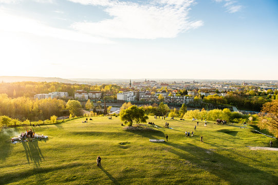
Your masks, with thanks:
M 276 0 L 0 0 L 0 76 L 278 80 Z

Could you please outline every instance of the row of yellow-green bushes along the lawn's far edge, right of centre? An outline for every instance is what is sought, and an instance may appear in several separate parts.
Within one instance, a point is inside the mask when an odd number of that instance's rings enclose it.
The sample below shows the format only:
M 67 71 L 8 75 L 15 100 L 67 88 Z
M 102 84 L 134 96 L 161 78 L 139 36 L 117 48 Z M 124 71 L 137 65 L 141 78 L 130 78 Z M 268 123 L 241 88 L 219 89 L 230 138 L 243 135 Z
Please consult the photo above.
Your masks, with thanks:
M 186 114 L 183 115 L 183 119 L 199 119 L 203 120 L 207 119 L 210 121 L 216 121 L 216 119 L 226 120 L 228 122 L 233 123 L 243 123 L 243 122 L 250 122 L 250 121 L 257 121 L 257 115 L 244 115 L 238 112 L 231 112 L 229 108 L 224 108 L 223 110 L 220 109 L 213 109 L 213 110 L 205 110 L 202 109 L 201 111 L 196 110 L 189 110 Z

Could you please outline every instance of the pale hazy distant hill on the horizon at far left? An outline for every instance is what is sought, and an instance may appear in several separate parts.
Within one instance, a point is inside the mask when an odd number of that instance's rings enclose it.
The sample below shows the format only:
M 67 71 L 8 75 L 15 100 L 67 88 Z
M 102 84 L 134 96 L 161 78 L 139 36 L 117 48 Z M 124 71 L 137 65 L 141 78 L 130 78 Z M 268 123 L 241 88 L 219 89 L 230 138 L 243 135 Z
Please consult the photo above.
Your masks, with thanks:
M 0 76 L 0 82 L 62 82 L 62 83 L 77 83 L 73 80 L 62 78 L 48 78 L 48 77 L 9 77 Z

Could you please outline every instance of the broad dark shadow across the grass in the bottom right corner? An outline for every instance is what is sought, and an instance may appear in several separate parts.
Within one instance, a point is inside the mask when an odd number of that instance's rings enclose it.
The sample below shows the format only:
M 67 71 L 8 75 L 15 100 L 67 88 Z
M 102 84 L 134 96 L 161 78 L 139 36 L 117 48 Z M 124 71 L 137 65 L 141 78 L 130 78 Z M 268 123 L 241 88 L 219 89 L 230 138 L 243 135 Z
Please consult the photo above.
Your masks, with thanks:
M 220 179 L 229 181 L 231 184 L 277 184 L 278 182 L 277 176 L 215 152 L 209 151 L 208 153 L 208 150 L 196 145 L 190 143 L 181 145 L 172 142 L 165 142 L 165 144 L 174 147 L 169 152 L 190 161 L 198 168 L 206 170 Z M 248 174 L 252 174 L 252 176 Z

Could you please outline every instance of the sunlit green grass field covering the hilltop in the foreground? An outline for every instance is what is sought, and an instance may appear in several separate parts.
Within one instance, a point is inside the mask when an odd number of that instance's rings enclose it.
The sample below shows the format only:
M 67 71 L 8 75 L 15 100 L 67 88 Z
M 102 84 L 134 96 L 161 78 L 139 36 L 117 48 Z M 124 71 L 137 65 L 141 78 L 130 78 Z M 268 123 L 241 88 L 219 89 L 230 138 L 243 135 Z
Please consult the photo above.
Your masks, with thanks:
M 2 132 L 0 184 L 278 184 L 278 152 L 247 147 L 268 146 L 271 138 L 236 124 L 202 122 L 194 131 L 196 122 L 166 118 L 170 129 L 150 116 L 156 131 L 131 132 L 115 117 L 82 120 L 32 127 L 49 137 L 41 141 L 8 142 L 24 127 Z M 169 142 L 149 142 L 166 134 Z

